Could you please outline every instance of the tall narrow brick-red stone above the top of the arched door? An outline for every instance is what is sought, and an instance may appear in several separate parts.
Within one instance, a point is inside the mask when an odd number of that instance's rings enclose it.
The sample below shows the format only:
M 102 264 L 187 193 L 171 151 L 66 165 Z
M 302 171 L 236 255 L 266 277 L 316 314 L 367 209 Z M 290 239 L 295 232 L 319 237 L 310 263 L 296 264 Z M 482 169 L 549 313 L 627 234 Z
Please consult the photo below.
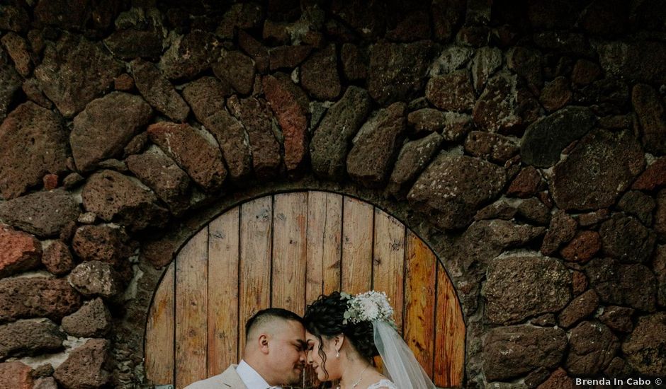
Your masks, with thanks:
M 266 76 L 263 85 L 284 135 L 285 165 L 288 171 L 297 170 L 307 153 L 307 95 L 286 74 Z

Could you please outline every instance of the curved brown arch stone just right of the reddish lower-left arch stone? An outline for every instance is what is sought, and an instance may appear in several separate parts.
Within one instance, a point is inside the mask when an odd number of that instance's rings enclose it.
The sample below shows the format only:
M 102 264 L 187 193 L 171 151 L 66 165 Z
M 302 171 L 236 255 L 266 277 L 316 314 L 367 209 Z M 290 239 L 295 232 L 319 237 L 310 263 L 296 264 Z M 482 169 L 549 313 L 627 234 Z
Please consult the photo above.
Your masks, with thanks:
M 252 173 L 252 150 L 243 124 L 227 110 L 210 115 L 203 124 L 218 140 L 231 179 L 238 182 Z

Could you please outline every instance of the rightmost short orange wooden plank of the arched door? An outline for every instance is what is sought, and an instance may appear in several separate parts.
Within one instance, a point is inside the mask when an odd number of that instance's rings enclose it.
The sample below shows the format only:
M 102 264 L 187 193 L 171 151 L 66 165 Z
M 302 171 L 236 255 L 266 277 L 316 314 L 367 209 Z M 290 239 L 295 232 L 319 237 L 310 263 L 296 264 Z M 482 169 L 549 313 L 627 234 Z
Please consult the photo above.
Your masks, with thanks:
M 441 264 L 437 265 L 435 349 L 435 384 L 461 386 L 465 368 L 465 322 L 456 291 Z

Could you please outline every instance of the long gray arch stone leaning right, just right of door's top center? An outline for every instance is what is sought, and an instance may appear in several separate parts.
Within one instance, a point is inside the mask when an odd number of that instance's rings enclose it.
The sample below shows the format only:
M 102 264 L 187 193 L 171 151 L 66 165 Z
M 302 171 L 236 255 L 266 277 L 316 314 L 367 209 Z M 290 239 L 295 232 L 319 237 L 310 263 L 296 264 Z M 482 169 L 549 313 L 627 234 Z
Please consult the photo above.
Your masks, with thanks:
M 356 86 L 347 88 L 342 98 L 329 108 L 310 142 L 315 174 L 332 180 L 342 179 L 349 141 L 363 124 L 369 109 L 368 93 Z

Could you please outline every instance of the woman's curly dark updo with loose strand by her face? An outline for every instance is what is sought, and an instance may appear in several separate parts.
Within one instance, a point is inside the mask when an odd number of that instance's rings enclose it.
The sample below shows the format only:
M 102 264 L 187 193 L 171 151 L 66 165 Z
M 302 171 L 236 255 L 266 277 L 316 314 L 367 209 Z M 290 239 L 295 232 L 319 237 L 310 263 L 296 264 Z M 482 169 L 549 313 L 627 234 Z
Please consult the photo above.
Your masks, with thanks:
M 338 291 L 334 291 L 328 296 L 322 294 L 305 308 L 303 325 L 308 332 L 319 339 L 320 344 L 322 344 L 323 337 L 331 339 L 337 335 L 344 335 L 356 352 L 359 352 L 364 359 L 373 361 L 373 356 L 379 355 L 373 339 L 373 325 L 369 321 L 343 324 L 347 301 L 348 299 L 343 298 Z M 319 355 L 325 364 L 326 354 L 321 347 Z M 328 378 L 326 368 L 324 366 L 321 368 Z

